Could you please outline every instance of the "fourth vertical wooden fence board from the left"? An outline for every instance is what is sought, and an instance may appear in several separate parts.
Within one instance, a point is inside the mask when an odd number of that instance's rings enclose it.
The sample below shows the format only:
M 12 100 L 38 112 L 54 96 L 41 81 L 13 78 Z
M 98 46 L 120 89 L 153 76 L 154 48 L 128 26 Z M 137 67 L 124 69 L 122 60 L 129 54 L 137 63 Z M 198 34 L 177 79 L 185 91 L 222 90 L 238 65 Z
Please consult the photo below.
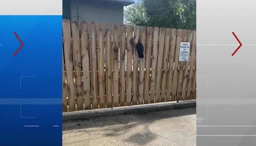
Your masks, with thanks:
M 98 76 L 97 76 L 97 53 L 96 53 L 96 23 L 90 22 L 90 69 L 91 69 L 91 95 L 92 95 L 92 108 L 98 109 Z

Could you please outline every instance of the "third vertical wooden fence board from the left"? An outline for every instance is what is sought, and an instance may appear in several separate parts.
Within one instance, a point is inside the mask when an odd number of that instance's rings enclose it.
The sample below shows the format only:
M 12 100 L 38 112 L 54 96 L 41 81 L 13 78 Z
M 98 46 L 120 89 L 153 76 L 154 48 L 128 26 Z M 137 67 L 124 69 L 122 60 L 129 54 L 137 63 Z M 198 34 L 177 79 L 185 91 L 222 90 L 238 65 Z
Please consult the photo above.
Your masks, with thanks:
M 81 21 L 81 56 L 83 66 L 84 109 L 91 109 L 89 43 L 87 34 L 88 23 L 86 21 Z

